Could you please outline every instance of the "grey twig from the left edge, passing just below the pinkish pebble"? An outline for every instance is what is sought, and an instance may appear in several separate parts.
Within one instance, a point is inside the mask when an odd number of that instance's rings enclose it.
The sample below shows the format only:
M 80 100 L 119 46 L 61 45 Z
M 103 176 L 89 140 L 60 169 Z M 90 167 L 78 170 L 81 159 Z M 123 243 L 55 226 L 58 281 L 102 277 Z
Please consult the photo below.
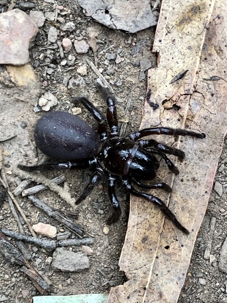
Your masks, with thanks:
M 53 251 L 54 249 L 56 249 L 56 243 L 54 240 L 45 240 L 45 239 L 41 239 L 41 238 L 34 238 L 31 236 L 27 236 L 27 235 L 21 235 L 18 232 L 11 231 L 11 230 L 8 230 L 5 228 L 2 228 L 2 232 L 4 235 L 6 235 L 8 237 L 12 237 L 17 240 L 25 241 L 28 243 L 33 243 L 35 245 L 45 248 L 45 250 L 47 250 L 47 251 Z

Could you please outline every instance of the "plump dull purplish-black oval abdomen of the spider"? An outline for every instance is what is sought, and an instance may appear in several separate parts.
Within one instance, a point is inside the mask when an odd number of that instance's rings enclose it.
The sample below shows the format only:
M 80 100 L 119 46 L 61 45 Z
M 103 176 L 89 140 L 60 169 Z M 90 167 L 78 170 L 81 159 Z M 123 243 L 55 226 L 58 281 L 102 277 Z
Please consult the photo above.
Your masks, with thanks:
M 35 126 L 35 143 L 47 156 L 64 161 L 97 155 L 99 135 L 78 116 L 50 112 Z

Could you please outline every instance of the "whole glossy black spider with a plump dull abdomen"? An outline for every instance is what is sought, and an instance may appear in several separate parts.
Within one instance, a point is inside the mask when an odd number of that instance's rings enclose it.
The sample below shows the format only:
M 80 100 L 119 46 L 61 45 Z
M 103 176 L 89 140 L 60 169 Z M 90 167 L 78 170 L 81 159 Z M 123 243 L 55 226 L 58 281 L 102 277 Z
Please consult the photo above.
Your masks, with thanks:
M 108 193 L 114 208 L 112 216 L 107 220 L 108 224 L 116 222 L 121 213 L 115 194 L 115 183 L 117 179 L 120 179 L 132 195 L 145 198 L 159 206 L 161 211 L 177 228 L 183 233 L 189 234 L 189 231 L 179 223 L 162 200 L 151 194 L 137 191 L 132 185 L 132 183 L 135 183 L 140 188 L 161 188 L 171 192 L 172 189 L 165 183 L 144 185 L 140 180 L 152 180 L 155 178 L 160 164 L 154 154 L 160 155 L 168 168 L 175 174 L 179 174 L 178 169 L 166 154 L 175 155 L 182 161 L 185 157 L 184 152 L 153 139 L 139 139 L 160 134 L 205 138 L 205 134 L 185 129 L 154 127 L 142 129 L 139 132 L 127 135 L 125 138 L 120 138 L 115 98 L 110 95 L 107 89 L 101 88 L 100 85 L 98 85 L 98 89 L 102 93 L 103 98 L 107 100 L 107 121 L 110 127 L 110 134 L 107 132 L 105 118 L 99 110 L 87 98 L 77 98 L 76 101 L 81 102 L 98 122 L 97 133 L 77 116 L 66 112 L 50 112 L 38 120 L 35 126 L 35 142 L 44 154 L 66 162 L 38 166 L 19 165 L 19 168 L 28 171 L 67 168 L 89 168 L 94 170 L 89 184 L 84 188 L 76 204 L 84 200 L 100 181 L 101 176 L 107 173 L 109 177 Z

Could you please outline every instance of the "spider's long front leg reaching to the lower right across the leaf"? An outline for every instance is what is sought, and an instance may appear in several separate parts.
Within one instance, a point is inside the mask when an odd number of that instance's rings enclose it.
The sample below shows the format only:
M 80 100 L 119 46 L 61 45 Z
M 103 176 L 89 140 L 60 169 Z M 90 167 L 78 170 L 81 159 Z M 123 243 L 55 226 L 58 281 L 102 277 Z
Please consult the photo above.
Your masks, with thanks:
M 184 234 L 188 235 L 189 231 L 177 220 L 176 216 L 172 213 L 172 211 L 165 205 L 165 203 L 160 200 L 159 198 L 150 195 L 150 194 L 146 194 L 146 193 L 142 193 L 137 191 L 131 184 L 130 184 L 130 180 L 128 179 L 123 179 L 123 184 L 126 186 L 127 190 L 136 197 L 140 197 L 140 198 L 145 198 L 146 200 L 148 200 L 149 202 L 154 203 L 155 205 L 157 205 L 160 210 L 163 212 L 163 214 L 170 220 L 173 222 L 173 224 L 179 229 L 181 230 Z

